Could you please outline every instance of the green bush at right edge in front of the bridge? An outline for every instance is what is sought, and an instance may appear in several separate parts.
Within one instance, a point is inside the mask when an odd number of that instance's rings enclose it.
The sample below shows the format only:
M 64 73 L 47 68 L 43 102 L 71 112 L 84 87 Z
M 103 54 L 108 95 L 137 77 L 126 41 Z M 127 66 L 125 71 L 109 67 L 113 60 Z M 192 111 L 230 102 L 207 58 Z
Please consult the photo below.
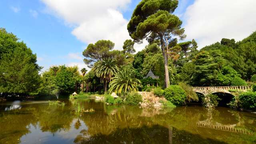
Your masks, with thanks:
M 239 102 L 242 108 L 256 108 L 256 92 L 243 92 L 239 95 Z

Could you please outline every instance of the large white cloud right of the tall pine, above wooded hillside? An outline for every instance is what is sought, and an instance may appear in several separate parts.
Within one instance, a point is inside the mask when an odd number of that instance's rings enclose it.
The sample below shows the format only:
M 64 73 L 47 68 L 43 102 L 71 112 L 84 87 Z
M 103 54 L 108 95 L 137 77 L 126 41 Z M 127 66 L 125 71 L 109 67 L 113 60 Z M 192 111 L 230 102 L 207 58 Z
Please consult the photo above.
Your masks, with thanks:
M 256 31 L 256 0 L 195 0 L 184 14 L 187 39 L 199 48 L 222 38 L 242 40 Z

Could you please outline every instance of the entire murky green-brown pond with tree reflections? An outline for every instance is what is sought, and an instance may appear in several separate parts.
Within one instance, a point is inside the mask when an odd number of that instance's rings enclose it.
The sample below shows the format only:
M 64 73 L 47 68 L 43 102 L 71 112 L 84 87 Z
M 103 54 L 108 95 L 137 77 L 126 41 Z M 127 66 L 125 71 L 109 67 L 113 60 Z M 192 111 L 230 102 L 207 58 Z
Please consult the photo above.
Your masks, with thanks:
M 62 101 L 66 106 L 48 101 L 21 102 L 21 107 L 0 103 L 0 144 L 256 143 L 256 114 L 248 112 L 224 107 L 208 111 L 200 106 L 108 106 L 93 99 Z

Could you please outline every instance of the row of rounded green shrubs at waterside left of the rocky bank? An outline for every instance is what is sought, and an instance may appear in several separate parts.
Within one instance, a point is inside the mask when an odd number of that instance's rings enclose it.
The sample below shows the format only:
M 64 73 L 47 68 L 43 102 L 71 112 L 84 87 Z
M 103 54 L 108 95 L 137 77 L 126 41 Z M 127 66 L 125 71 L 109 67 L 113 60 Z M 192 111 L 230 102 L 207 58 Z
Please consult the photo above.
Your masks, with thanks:
M 104 95 L 105 102 L 108 104 L 127 104 L 127 105 L 139 105 L 140 102 L 142 102 L 142 96 L 141 94 L 138 94 L 137 92 L 129 92 L 122 94 L 122 97 L 114 98 L 110 94 Z

